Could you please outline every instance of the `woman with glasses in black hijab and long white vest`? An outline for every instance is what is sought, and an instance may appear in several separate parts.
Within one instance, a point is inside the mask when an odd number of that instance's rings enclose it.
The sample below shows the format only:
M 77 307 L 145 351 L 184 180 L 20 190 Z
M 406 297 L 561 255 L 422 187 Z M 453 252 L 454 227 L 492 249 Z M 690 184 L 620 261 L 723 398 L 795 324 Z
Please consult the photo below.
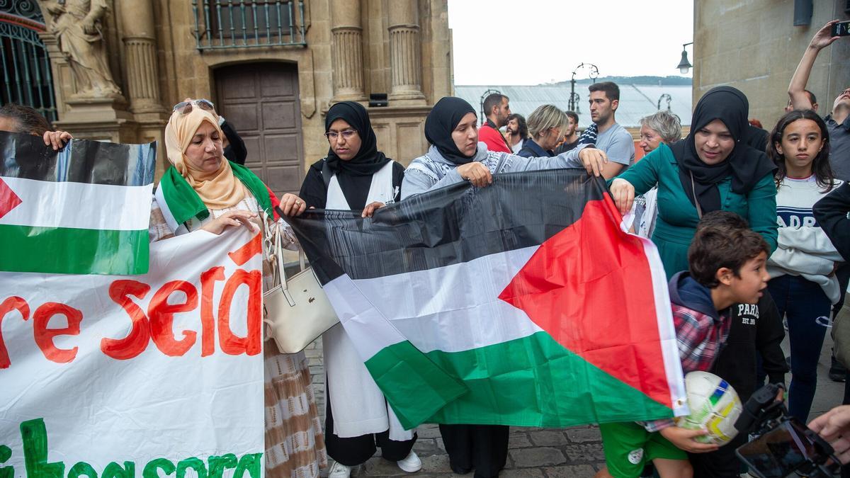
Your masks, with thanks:
M 399 201 L 404 167 L 377 151 L 369 115 L 360 103 L 332 105 L 325 119 L 327 156 L 310 166 L 298 196 L 280 198 L 287 216 L 306 208 L 362 210 Z M 327 373 L 325 444 L 334 459 L 329 478 L 347 478 L 381 447 L 383 458 L 412 473 L 422 461 L 412 451 L 415 430 L 404 430 L 366 370 L 342 324 L 322 334 Z

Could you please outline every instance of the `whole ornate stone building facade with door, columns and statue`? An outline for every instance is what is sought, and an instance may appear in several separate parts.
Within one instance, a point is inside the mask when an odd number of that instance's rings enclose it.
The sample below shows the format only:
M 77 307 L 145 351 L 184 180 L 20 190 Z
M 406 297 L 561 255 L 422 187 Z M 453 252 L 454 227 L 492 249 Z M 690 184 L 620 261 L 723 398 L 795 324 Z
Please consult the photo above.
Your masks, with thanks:
M 29 20 L 43 21 L 38 36 L 57 128 L 78 138 L 161 141 L 172 105 L 206 98 L 245 140 L 246 165 L 278 193 L 297 191 L 309 164 L 326 155 L 324 117 L 333 102 L 368 105 L 371 94 L 385 94 L 388 105 L 369 107 L 378 145 L 406 163 L 427 149 L 431 106 L 452 93 L 446 0 L 40 0 L 38 7 L 41 19 L 36 12 Z M 71 17 L 73 9 L 80 15 Z M 96 23 L 87 13 L 98 14 Z M 20 23 L 16 14 L 0 11 L 0 26 Z M 85 27 L 92 25 L 96 31 Z M 81 68 L 96 62 L 75 58 L 81 53 L 71 42 L 97 39 L 98 31 L 117 94 L 108 85 L 83 88 Z M 158 156 L 161 174 L 167 164 Z

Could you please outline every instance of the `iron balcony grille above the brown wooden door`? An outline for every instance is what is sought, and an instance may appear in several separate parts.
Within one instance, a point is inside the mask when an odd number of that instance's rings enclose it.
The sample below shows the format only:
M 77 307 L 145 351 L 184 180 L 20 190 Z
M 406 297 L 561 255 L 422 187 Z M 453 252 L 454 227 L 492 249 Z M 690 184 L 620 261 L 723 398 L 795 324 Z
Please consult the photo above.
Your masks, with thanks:
M 303 0 L 192 1 L 197 48 L 306 46 Z

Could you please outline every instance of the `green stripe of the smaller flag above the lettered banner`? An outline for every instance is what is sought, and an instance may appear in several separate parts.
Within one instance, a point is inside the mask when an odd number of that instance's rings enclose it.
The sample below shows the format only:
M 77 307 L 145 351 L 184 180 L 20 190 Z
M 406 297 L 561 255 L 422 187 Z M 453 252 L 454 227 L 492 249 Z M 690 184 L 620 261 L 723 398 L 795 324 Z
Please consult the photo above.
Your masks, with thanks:
M 135 275 L 148 271 L 148 230 L 0 225 L 0 270 Z

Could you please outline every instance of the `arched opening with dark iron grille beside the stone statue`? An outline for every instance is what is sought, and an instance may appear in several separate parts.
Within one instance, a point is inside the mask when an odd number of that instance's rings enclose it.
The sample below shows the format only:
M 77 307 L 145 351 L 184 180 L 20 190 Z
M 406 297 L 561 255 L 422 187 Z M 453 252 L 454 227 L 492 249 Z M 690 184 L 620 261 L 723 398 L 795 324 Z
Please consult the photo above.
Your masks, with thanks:
M 0 0 L 0 105 L 29 105 L 56 121 L 53 76 L 39 33 L 45 30 L 37 2 Z

